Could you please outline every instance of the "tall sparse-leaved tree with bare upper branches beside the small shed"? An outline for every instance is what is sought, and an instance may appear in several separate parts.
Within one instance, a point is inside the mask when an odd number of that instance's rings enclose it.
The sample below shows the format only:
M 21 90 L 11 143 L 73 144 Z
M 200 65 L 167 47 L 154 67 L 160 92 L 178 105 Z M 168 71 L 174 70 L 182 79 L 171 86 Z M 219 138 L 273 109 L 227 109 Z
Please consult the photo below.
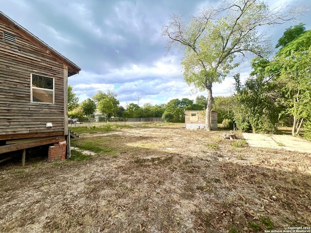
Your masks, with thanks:
M 258 34 L 262 25 L 280 24 L 292 19 L 279 9 L 259 0 L 222 1 L 215 8 L 203 8 L 186 26 L 180 16 L 170 17 L 162 26 L 168 38 L 168 50 L 174 43 L 185 48 L 182 60 L 186 82 L 197 90 L 207 91 L 206 130 L 211 130 L 212 84 L 221 83 L 239 63 L 237 55 L 264 55 L 269 48 L 266 37 Z

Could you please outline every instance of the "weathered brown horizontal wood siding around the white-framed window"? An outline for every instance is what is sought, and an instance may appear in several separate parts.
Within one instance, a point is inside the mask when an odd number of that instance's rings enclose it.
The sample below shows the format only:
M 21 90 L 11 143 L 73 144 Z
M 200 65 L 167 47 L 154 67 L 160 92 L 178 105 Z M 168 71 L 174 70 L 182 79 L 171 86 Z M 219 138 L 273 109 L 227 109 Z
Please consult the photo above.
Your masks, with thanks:
M 3 31 L 14 34 L 16 42 L 3 39 Z M 64 69 L 49 50 L 0 19 L 0 139 L 63 135 Z M 54 78 L 54 104 L 31 103 L 31 73 Z

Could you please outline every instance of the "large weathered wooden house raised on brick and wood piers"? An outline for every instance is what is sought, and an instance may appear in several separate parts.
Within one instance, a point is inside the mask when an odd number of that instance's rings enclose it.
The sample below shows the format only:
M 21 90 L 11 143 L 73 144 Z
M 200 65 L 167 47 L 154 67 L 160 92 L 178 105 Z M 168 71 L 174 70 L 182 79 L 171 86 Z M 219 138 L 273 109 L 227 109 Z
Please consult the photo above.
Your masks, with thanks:
M 0 12 L 1 154 L 51 145 L 64 159 L 68 139 L 68 77 L 80 67 Z M 5 159 L 5 158 L 4 158 Z

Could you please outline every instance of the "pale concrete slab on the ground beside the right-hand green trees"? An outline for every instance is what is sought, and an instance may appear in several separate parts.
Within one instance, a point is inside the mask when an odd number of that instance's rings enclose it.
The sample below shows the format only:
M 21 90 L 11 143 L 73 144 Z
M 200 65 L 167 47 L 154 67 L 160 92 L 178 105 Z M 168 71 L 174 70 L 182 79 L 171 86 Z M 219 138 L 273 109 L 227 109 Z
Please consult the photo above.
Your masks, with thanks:
M 291 135 L 242 133 L 250 147 L 273 148 L 311 153 L 311 142 Z

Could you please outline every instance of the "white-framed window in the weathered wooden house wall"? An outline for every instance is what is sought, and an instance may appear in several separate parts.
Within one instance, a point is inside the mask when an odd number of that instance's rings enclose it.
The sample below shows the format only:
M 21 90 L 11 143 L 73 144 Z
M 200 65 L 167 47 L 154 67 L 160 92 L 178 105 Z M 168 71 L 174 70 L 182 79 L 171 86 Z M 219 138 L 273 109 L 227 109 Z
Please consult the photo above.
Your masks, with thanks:
M 31 102 L 54 104 L 54 79 L 31 74 Z

